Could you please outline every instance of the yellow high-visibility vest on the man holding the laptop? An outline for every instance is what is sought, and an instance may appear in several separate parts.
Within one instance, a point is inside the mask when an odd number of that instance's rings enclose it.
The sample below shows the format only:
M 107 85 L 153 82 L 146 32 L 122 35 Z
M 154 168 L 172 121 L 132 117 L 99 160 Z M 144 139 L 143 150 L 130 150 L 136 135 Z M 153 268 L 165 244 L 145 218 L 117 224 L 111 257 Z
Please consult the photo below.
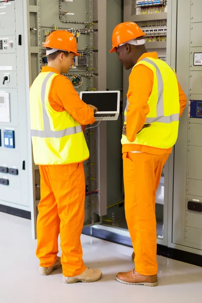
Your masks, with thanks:
M 56 112 L 48 102 L 54 72 L 38 75 L 30 88 L 30 120 L 34 163 L 62 165 L 89 158 L 81 125 L 67 112 Z M 65 87 L 64 87 L 65 89 Z

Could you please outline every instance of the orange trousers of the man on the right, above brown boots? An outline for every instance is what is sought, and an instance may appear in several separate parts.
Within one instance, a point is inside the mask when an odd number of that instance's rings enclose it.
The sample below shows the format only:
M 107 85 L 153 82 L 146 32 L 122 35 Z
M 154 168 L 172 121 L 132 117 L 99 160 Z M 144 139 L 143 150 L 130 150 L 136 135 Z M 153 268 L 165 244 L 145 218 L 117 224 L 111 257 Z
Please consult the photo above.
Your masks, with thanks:
M 169 155 L 123 153 L 125 214 L 135 252 L 135 270 L 158 272 L 156 191 Z

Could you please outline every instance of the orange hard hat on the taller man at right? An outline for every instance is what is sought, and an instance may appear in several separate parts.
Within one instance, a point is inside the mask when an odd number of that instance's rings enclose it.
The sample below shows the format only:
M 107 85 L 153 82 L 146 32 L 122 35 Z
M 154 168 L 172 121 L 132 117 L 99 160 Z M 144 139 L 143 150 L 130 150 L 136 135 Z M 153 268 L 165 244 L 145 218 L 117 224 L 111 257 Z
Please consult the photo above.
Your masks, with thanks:
M 116 47 L 126 43 L 130 40 L 134 40 L 138 37 L 145 36 L 145 33 L 134 22 L 124 22 L 117 25 L 112 35 L 112 49 L 110 53 L 116 52 Z

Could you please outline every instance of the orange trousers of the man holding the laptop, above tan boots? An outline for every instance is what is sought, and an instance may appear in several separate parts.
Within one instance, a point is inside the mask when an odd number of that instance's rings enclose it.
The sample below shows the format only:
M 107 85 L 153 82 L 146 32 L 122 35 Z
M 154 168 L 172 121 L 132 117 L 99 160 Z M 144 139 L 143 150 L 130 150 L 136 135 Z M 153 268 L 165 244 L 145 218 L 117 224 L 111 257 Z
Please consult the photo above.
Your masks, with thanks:
M 60 233 L 65 277 L 85 270 L 80 236 L 84 223 L 85 176 L 83 163 L 40 166 L 41 200 L 38 205 L 37 250 L 40 266 L 57 260 Z

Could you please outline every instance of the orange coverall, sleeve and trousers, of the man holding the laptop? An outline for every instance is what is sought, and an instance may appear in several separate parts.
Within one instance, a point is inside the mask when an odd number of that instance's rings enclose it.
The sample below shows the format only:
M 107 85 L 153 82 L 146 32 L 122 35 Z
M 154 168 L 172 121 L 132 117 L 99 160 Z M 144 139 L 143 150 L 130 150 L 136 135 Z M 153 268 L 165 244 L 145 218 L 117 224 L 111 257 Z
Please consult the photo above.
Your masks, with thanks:
M 55 72 L 43 67 L 41 72 Z M 92 124 L 94 112 L 83 103 L 70 80 L 55 77 L 48 95 L 57 111 L 67 111 L 81 125 Z M 84 222 L 85 176 L 83 163 L 39 166 L 41 200 L 38 205 L 37 249 L 40 266 L 51 267 L 57 260 L 60 233 L 62 267 L 65 277 L 85 270 L 80 236 Z

